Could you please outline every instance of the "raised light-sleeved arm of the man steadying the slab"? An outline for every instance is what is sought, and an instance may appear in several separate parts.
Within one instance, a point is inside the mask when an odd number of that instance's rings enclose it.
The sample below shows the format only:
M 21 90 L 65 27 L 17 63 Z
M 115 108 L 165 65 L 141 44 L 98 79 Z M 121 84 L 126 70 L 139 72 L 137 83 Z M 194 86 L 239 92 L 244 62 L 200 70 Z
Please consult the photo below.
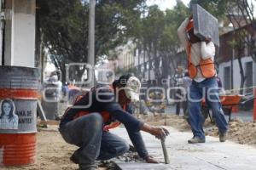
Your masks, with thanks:
M 183 20 L 183 23 L 178 27 L 177 29 L 177 37 L 179 38 L 180 42 L 183 45 L 183 48 L 185 48 L 186 52 L 188 53 L 188 43 L 189 43 L 189 39 L 187 37 L 187 32 L 186 32 L 186 27 L 189 24 L 189 18 L 186 18 L 185 20 Z

